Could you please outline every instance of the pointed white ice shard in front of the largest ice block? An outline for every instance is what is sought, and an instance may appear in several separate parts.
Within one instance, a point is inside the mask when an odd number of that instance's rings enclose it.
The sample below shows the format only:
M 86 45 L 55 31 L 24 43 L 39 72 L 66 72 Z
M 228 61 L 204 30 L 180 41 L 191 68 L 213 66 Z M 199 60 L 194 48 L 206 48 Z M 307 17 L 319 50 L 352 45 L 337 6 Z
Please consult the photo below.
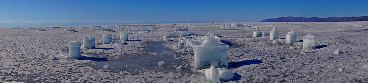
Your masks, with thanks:
M 220 82 L 219 72 L 213 65 L 209 69 L 206 69 L 205 75 L 206 75 L 206 78 L 212 83 Z

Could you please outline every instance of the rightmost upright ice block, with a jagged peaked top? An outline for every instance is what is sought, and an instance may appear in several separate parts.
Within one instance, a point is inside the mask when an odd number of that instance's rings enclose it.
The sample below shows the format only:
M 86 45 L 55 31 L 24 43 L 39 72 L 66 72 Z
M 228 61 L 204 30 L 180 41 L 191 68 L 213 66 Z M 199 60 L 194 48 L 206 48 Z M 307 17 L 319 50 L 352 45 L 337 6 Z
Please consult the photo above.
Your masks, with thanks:
M 303 37 L 303 50 L 316 49 L 316 40 L 311 34 L 305 35 Z

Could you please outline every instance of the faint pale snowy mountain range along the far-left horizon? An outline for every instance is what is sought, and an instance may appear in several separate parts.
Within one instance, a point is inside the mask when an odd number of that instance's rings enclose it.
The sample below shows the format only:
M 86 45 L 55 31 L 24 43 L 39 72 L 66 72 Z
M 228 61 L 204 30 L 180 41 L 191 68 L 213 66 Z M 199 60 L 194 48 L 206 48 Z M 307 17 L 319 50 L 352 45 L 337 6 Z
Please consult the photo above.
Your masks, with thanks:
M 0 27 L 30 26 L 81 26 L 81 25 L 116 25 L 116 24 L 162 24 L 162 23 L 211 23 L 211 22 L 259 22 L 259 20 L 186 20 L 186 21 L 134 21 L 134 22 L 68 22 L 68 23 L 0 23 Z

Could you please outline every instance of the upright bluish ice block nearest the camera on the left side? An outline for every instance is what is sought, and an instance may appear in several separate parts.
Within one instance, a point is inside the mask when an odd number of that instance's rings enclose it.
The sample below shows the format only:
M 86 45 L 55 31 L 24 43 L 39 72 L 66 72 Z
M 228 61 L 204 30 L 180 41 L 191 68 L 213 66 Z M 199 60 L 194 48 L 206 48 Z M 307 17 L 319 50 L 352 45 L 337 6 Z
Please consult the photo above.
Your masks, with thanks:
M 81 59 L 81 43 L 78 41 L 71 41 L 68 43 L 69 45 L 69 56 L 74 59 Z

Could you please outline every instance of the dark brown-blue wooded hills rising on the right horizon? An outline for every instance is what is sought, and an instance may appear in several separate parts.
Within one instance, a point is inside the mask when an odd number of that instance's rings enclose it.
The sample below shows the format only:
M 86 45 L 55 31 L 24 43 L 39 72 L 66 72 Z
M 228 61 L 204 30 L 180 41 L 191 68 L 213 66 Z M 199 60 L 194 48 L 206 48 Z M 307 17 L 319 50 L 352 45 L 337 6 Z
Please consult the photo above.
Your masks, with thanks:
M 329 17 L 329 18 L 303 18 L 303 17 L 280 17 L 265 19 L 261 22 L 352 22 L 368 21 L 368 16 L 360 17 Z

